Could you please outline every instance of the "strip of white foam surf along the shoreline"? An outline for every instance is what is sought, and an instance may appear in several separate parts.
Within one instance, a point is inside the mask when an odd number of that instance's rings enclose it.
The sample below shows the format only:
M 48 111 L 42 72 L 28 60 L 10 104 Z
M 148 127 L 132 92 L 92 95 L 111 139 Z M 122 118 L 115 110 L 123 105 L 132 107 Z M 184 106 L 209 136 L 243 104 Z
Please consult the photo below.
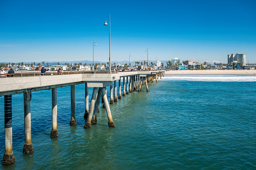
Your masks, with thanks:
M 169 76 L 165 75 L 162 80 L 186 80 L 186 81 L 222 81 L 222 82 L 255 82 L 256 76 L 240 75 L 184 75 Z

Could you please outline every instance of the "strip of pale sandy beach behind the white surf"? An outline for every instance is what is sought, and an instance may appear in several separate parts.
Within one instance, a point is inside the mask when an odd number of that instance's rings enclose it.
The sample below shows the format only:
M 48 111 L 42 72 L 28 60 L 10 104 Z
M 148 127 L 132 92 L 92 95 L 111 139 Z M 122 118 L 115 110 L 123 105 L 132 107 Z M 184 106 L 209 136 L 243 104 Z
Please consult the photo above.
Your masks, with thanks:
M 256 70 L 175 70 L 166 75 L 256 75 Z

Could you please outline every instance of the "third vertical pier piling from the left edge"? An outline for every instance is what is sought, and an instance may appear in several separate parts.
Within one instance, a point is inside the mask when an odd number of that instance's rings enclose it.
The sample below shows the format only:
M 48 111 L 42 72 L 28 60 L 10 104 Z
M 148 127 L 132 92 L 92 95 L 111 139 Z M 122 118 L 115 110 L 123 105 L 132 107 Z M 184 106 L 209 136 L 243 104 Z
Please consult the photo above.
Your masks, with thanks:
M 58 129 L 57 129 L 57 88 L 52 88 L 52 130 L 51 130 L 51 137 L 58 136 Z

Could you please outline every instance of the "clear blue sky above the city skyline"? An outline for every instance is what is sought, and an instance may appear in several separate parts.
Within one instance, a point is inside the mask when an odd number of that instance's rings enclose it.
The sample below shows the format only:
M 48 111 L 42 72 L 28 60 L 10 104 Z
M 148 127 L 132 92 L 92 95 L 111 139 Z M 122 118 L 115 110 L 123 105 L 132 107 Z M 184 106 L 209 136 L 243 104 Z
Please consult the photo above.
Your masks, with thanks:
M 256 0 L 0 0 L 0 62 L 109 59 L 256 63 Z

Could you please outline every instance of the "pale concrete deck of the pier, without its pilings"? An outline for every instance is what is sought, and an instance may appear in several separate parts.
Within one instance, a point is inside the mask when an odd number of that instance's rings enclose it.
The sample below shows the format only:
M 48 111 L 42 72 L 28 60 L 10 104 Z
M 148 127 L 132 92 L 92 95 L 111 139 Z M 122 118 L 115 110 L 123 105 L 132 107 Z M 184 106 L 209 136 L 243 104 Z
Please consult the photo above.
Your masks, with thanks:
M 39 91 L 83 83 L 88 83 L 88 87 L 106 87 L 110 86 L 112 81 L 119 80 L 121 77 L 151 75 L 162 72 L 164 71 L 98 72 L 89 74 L 78 72 L 78 74 L 5 77 L 0 78 L 0 96 L 23 93 L 26 89 Z

